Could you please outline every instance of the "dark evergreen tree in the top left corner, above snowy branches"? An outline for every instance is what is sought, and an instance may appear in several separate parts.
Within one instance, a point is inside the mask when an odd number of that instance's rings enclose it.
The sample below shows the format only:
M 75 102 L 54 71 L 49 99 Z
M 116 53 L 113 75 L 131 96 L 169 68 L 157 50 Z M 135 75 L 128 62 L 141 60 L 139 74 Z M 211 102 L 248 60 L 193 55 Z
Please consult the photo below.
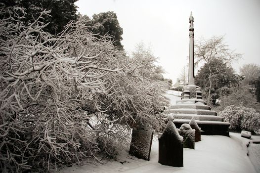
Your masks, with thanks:
M 63 30 L 63 27 L 71 20 L 77 19 L 77 6 L 74 4 L 77 0 L 3 0 L 8 6 L 17 6 L 23 8 L 26 13 L 22 19 L 25 25 L 35 21 L 40 13 L 45 10 L 51 10 L 50 15 L 44 18 L 44 23 L 49 24 L 44 28 L 53 35 L 57 35 Z

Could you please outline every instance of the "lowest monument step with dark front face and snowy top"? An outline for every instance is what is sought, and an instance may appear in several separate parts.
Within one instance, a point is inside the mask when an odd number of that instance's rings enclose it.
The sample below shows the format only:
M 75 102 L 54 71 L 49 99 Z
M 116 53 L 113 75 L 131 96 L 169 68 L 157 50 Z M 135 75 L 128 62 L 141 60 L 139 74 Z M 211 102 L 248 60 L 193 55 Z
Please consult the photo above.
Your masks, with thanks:
M 190 120 L 187 119 L 174 119 L 173 123 L 176 128 L 180 128 L 180 126 L 184 123 L 189 123 Z M 230 126 L 229 123 L 226 122 L 219 122 L 219 121 L 201 121 L 196 120 L 196 123 L 201 128 L 201 134 L 208 134 L 208 135 L 225 135 L 229 136 L 228 127 Z

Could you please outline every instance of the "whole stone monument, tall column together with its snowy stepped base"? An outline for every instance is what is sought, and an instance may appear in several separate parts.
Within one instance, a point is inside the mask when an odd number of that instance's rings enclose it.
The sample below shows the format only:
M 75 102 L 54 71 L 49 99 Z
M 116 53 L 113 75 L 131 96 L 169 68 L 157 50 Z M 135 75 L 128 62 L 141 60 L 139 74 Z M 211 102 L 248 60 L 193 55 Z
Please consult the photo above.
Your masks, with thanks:
M 197 123 L 201 128 L 201 134 L 217 134 L 229 136 L 228 127 L 229 123 L 224 122 L 222 117 L 217 116 L 217 112 L 212 111 L 211 107 L 206 105 L 206 102 L 202 99 L 202 92 L 199 86 L 195 86 L 194 80 L 194 28 L 193 28 L 193 16 L 190 13 L 189 23 L 189 36 L 190 36 L 190 52 L 189 52 L 189 81 L 187 86 L 183 86 L 181 100 L 176 100 L 176 104 L 172 105 L 170 109 L 165 110 L 164 113 L 173 116 L 173 123 L 177 128 L 180 128 L 182 124 L 189 124 L 191 119 L 192 123 Z M 192 125 L 191 125 L 192 126 Z M 191 127 L 192 129 L 195 128 Z M 199 134 L 199 130 L 196 127 Z M 199 138 L 197 138 L 199 139 Z M 195 141 L 197 140 L 195 139 Z M 172 140 L 172 139 L 171 139 Z M 160 140 L 159 140 L 160 147 Z M 159 149 L 160 152 L 160 149 Z M 160 154 L 159 154 L 160 157 Z M 161 163 L 159 161 L 159 163 Z

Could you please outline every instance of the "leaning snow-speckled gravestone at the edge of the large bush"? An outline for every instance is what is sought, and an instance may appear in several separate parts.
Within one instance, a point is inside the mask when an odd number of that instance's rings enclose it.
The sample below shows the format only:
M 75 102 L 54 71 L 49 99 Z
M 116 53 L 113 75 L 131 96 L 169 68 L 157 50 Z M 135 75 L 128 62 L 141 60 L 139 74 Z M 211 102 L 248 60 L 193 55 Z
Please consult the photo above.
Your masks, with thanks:
M 150 160 L 153 130 L 139 126 L 132 130 L 132 139 L 129 154 L 139 159 Z

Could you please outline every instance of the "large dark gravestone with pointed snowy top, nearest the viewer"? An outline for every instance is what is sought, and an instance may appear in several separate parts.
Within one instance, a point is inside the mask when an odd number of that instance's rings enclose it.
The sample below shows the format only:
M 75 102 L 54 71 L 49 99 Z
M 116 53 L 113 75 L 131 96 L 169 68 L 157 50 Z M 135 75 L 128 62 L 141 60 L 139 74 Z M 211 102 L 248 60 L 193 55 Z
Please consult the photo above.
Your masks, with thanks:
M 159 138 L 159 161 L 162 165 L 183 167 L 183 137 L 169 121 Z

